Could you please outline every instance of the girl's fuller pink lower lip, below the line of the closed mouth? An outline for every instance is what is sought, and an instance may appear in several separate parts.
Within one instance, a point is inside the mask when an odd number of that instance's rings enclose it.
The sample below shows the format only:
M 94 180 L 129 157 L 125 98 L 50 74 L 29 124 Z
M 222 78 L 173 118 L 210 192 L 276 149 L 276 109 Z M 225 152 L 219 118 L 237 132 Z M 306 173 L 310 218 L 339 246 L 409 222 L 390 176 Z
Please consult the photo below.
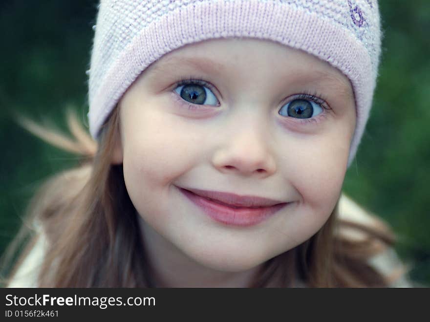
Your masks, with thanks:
M 195 205 L 215 221 L 232 226 L 257 225 L 271 215 L 274 215 L 288 203 L 281 203 L 261 208 L 231 208 L 211 201 L 185 189 L 180 189 Z

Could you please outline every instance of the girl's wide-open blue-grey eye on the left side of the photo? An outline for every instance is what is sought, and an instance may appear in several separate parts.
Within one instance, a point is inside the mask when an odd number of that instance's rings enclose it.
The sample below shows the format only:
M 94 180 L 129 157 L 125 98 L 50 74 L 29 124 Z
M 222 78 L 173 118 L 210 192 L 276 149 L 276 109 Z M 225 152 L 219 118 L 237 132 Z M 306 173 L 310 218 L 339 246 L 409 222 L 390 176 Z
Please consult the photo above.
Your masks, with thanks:
M 198 80 L 183 81 L 175 88 L 182 99 L 188 103 L 197 105 L 218 105 L 215 94 L 209 89 L 209 85 L 201 84 Z

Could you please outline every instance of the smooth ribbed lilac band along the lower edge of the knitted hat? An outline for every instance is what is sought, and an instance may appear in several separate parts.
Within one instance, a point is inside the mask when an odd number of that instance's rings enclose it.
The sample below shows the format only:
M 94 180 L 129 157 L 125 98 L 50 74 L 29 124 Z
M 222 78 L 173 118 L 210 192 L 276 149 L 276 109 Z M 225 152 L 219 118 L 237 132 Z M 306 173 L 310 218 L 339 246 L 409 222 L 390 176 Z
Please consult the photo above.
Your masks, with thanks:
M 263 12 L 264 17 L 260 14 Z M 357 115 L 349 166 L 366 126 L 376 68 L 372 68 L 364 45 L 342 24 L 305 8 L 274 1 L 194 3 L 179 7 L 142 28 L 104 74 L 94 76 L 97 70 L 94 73 L 91 70 L 88 112 L 91 135 L 97 138 L 119 99 L 151 63 L 183 45 L 229 37 L 272 40 L 304 50 L 329 62 L 348 77 L 354 90 Z

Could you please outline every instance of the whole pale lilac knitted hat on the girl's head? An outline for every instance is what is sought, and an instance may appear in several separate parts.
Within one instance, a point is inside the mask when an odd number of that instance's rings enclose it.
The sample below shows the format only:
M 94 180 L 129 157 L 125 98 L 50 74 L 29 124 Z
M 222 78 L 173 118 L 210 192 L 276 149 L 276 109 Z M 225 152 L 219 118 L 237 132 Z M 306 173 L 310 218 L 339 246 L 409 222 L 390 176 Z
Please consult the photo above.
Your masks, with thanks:
M 272 40 L 332 64 L 350 80 L 363 135 L 381 52 L 377 0 L 101 0 L 89 74 L 89 129 L 101 126 L 151 63 L 185 44 L 227 37 Z

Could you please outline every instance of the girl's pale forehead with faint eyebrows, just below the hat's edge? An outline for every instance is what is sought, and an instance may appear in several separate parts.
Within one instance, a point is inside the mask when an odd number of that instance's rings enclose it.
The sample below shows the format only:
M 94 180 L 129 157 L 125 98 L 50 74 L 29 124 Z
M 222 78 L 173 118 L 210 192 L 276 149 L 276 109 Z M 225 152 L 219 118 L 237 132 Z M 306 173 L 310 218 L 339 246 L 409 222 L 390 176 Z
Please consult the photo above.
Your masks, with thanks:
M 291 79 L 312 86 L 324 83 L 353 98 L 348 78 L 337 68 L 304 51 L 269 40 L 212 39 L 185 45 L 164 55 L 147 68 L 157 76 L 175 71 L 199 70 L 207 74 L 250 79 Z

